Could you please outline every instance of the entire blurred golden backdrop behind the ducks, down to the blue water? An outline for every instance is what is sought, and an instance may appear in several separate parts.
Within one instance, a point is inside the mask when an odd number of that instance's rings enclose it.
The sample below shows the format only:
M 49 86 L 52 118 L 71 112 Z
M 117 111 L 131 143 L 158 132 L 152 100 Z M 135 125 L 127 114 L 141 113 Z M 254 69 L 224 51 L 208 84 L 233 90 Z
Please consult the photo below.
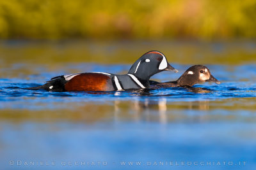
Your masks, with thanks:
M 256 62 L 256 1 L 0 1 L 0 67 L 131 64 L 159 50 L 179 64 Z

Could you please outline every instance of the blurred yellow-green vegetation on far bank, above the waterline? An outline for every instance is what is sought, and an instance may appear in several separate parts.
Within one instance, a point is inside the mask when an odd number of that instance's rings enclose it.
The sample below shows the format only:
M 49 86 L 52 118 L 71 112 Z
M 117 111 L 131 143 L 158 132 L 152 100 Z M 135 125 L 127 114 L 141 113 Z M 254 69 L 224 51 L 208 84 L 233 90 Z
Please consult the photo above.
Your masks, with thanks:
M 4 39 L 256 37 L 254 0 L 0 1 Z

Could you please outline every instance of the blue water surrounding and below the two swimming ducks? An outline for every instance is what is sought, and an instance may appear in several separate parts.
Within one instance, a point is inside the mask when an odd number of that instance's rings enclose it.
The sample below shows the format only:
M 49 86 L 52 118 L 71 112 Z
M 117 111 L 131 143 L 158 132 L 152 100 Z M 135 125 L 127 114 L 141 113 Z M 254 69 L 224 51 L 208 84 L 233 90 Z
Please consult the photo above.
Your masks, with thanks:
M 176 80 L 189 67 L 172 65 L 180 72 L 163 72 L 152 79 Z M 129 65 L 72 64 L 54 71 L 40 65 L 2 68 L 0 165 L 3 169 L 255 169 L 256 65 L 208 67 L 220 85 L 126 92 L 22 88 L 72 71 L 125 73 Z M 130 161 L 141 165 L 129 166 Z

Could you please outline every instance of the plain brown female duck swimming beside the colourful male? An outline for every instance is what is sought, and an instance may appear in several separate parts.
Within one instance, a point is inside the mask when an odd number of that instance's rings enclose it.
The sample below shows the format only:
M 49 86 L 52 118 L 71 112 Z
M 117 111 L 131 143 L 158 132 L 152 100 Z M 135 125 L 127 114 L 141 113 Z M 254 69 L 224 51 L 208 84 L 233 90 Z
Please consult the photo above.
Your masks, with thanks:
M 214 76 L 212 76 L 209 68 L 202 65 L 195 65 L 189 67 L 185 73 L 180 76 L 176 81 L 168 81 L 164 83 L 159 83 L 157 81 L 149 81 L 150 89 L 160 89 L 165 87 L 192 87 L 197 83 L 203 83 L 205 81 L 214 82 L 220 84 Z

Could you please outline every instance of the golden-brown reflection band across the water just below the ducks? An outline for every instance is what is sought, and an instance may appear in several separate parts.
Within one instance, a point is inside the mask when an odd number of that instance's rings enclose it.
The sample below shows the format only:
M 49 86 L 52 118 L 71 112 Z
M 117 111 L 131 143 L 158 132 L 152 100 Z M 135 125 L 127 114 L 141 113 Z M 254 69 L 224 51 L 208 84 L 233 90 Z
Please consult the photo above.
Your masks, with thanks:
M 107 103 L 86 102 L 56 103 L 56 110 L 26 110 L 3 109 L 0 110 L 0 120 L 10 122 L 168 122 L 180 121 L 211 121 L 211 120 L 239 120 L 254 122 L 253 113 L 256 111 L 255 99 L 233 98 L 221 101 L 180 101 L 170 102 L 167 97 L 150 100 L 150 97 L 140 99 L 134 97 L 133 101 L 108 101 Z M 241 110 L 243 110 L 241 112 Z M 236 113 L 236 111 L 238 111 Z M 248 116 L 244 117 L 244 111 Z M 236 113 L 236 114 L 235 114 Z

